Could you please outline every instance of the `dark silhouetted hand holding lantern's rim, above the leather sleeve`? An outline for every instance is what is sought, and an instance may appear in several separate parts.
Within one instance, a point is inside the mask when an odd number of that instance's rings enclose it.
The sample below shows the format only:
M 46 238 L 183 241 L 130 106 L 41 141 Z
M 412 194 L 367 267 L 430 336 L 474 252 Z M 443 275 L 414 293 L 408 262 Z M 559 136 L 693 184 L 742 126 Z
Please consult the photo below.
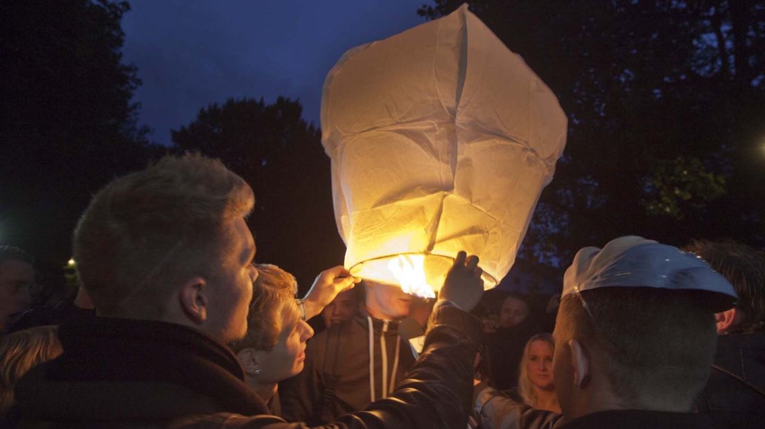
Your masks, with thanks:
M 444 287 L 438 292 L 439 299 L 446 299 L 462 308 L 472 310 L 483 295 L 483 269 L 478 267 L 478 256 L 460 251 L 444 280 Z

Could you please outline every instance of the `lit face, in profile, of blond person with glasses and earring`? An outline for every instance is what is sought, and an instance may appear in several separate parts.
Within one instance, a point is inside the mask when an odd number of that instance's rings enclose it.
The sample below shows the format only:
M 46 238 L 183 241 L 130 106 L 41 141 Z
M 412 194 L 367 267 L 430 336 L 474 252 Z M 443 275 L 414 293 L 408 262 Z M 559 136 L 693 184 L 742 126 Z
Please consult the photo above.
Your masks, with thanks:
M 282 311 L 285 313 L 285 311 Z M 285 318 L 286 319 L 286 318 Z M 260 373 L 254 378 L 256 382 L 280 382 L 292 376 L 297 376 L 305 363 L 305 342 L 314 336 L 314 330 L 307 323 L 295 317 L 289 318 L 288 325 L 282 326 L 278 343 L 271 350 L 258 350 L 255 353 L 260 366 Z

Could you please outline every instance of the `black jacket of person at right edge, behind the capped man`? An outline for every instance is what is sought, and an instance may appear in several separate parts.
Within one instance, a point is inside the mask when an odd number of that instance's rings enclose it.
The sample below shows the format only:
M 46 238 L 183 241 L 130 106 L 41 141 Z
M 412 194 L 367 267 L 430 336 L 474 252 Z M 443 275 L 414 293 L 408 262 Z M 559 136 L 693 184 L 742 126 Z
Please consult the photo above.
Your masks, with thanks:
M 765 424 L 765 397 L 752 386 L 765 392 L 765 333 L 721 335 L 696 408 L 715 427 L 759 427 Z

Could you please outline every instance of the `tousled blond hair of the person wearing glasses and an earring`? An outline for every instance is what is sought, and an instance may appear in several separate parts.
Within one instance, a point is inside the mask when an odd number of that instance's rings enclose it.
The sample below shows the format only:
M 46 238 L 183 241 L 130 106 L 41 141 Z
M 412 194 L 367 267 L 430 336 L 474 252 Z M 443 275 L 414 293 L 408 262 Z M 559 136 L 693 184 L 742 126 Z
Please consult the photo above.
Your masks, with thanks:
M 295 276 L 272 264 L 255 264 L 258 278 L 252 283 L 252 303 L 247 316 L 247 335 L 231 345 L 234 351 L 252 348 L 272 350 L 284 327 L 298 323 L 300 312 Z

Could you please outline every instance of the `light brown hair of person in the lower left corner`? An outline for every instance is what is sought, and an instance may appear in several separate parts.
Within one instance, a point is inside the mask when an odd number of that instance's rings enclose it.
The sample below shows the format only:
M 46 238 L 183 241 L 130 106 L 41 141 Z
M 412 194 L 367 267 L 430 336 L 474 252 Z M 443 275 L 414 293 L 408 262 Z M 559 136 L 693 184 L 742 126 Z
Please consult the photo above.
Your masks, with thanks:
M 63 351 L 57 331 L 56 326 L 38 326 L 0 340 L 0 420 L 15 403 L 16 382 L 34 366 L 57 358 Z

